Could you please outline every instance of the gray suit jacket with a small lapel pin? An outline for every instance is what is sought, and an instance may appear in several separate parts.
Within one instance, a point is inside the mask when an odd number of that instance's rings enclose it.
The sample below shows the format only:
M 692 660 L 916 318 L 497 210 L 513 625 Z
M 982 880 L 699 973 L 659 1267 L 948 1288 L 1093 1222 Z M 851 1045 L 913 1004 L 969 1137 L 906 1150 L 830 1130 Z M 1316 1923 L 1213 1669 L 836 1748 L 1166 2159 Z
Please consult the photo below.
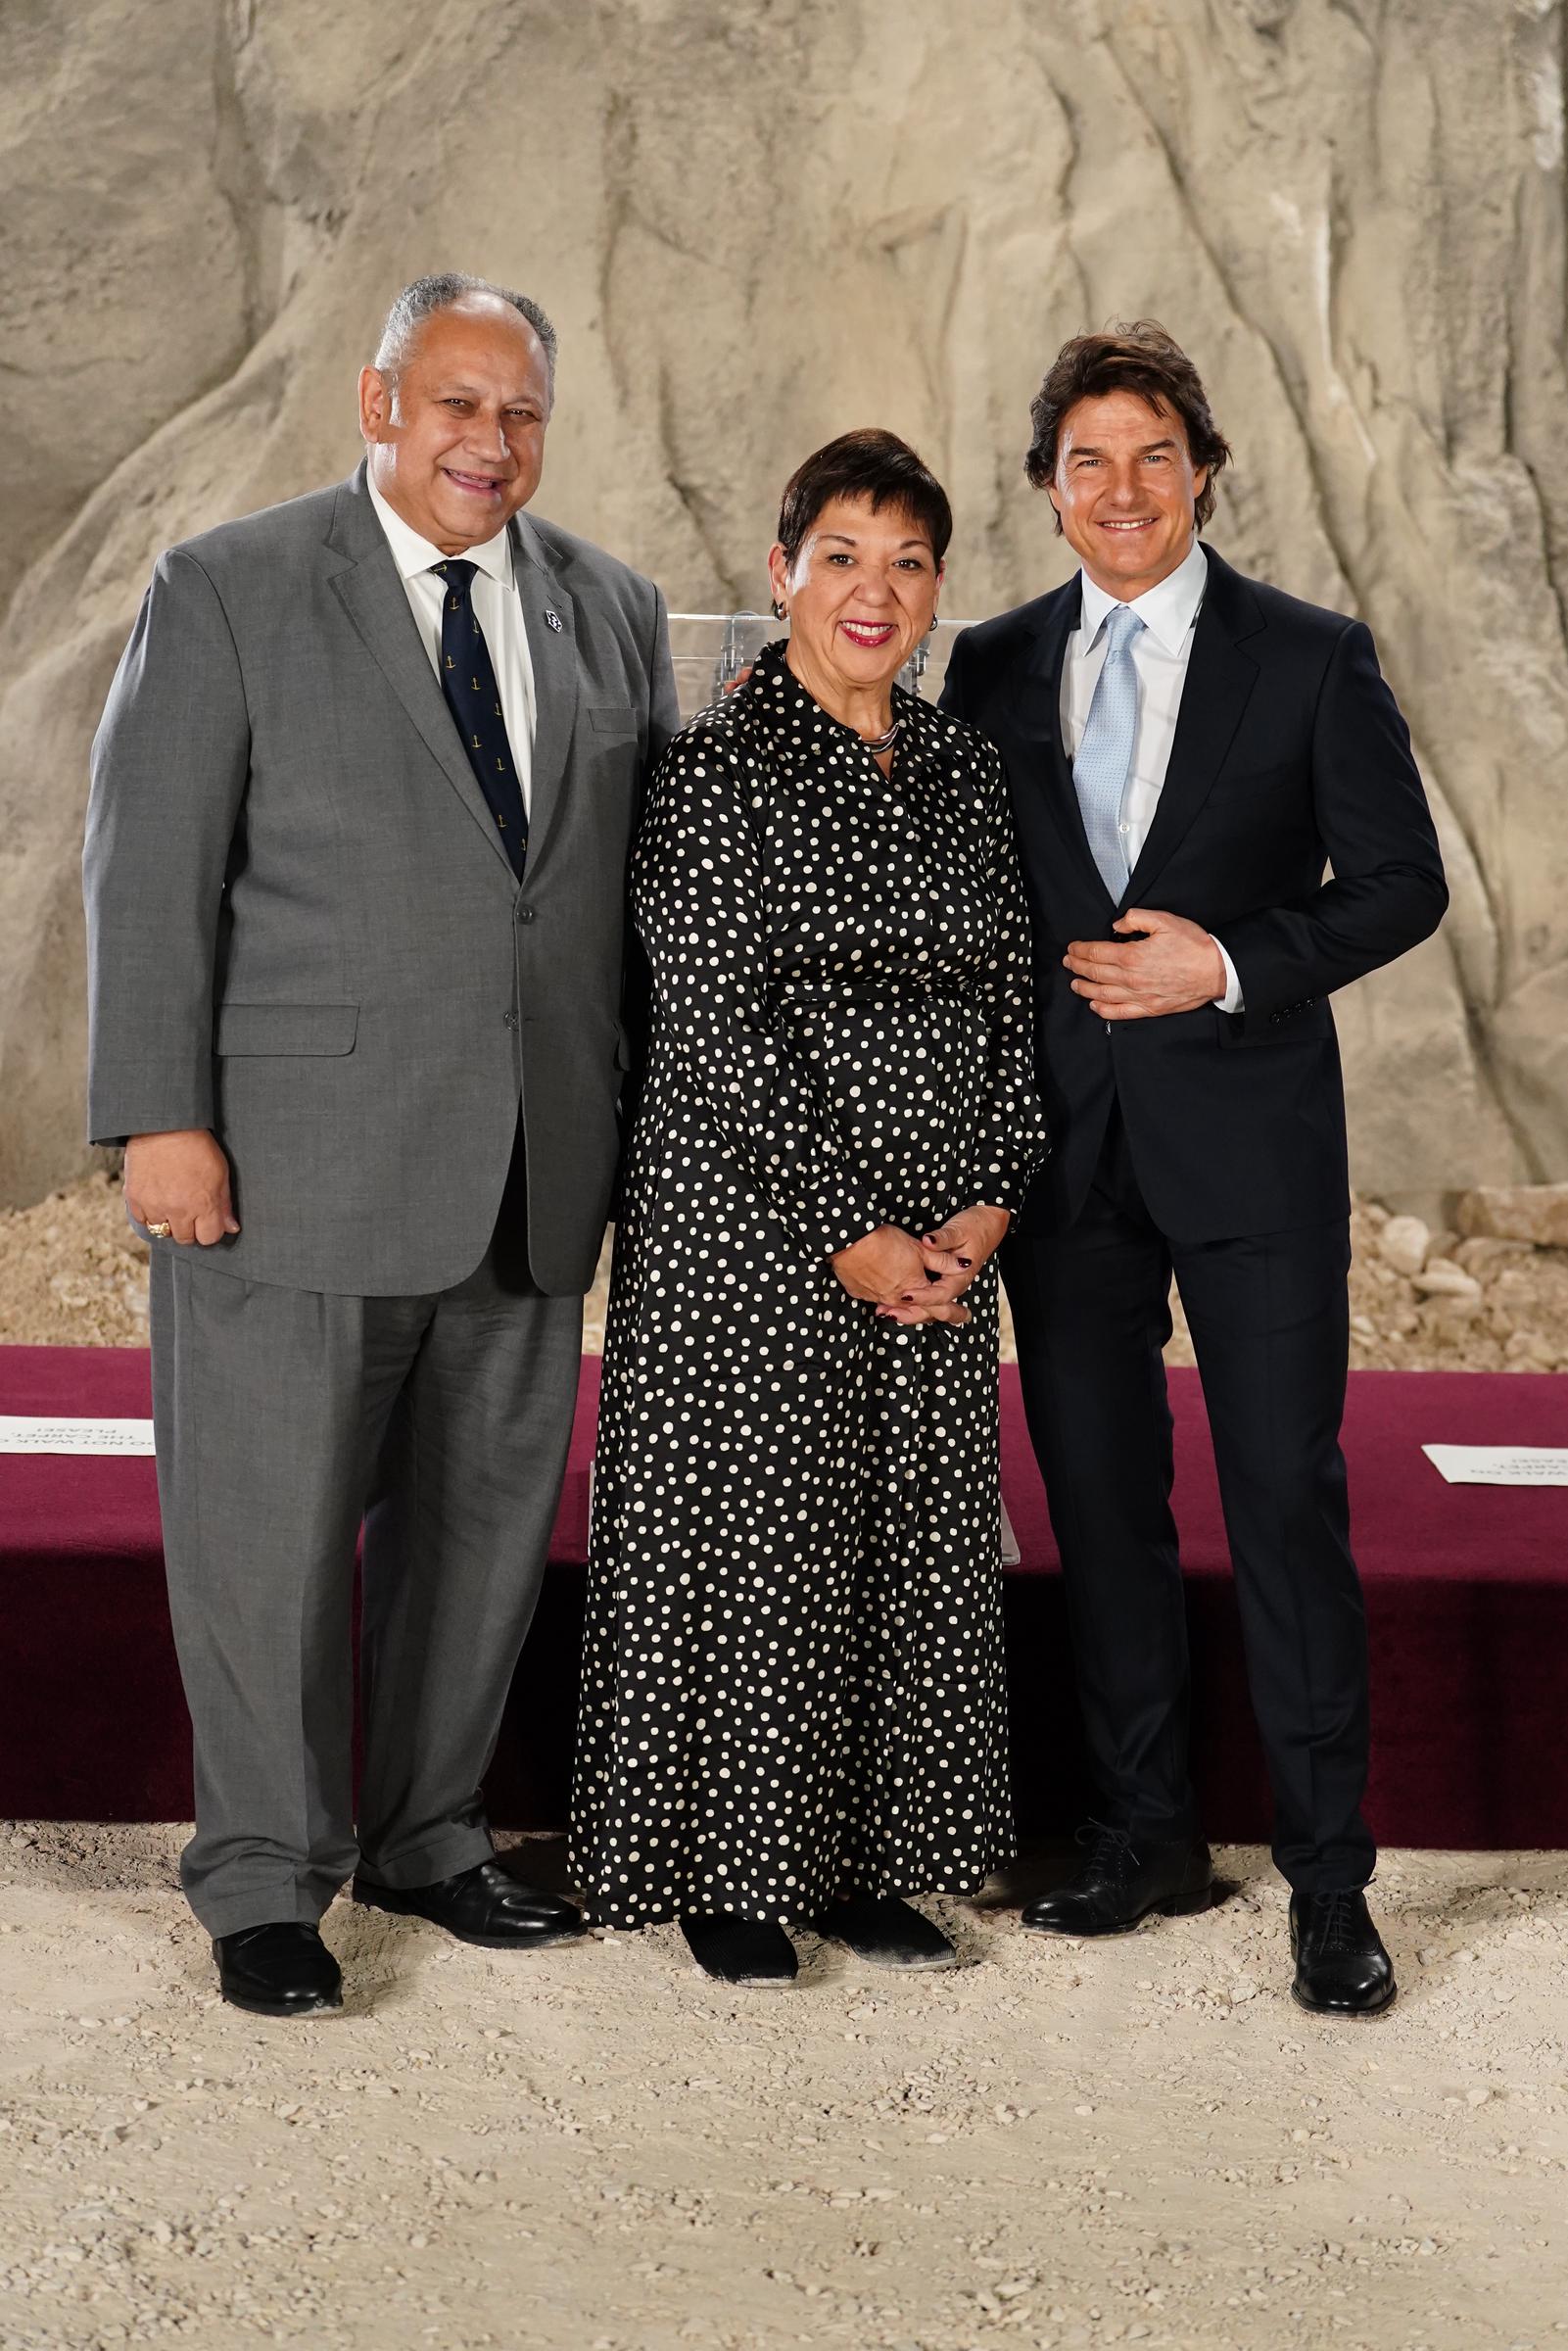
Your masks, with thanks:
M 172 548 L 141 604 L 92 757 L 89 1136 L 212 1126 L 242 1223 L 212 1258 L 240 1277 L 463 1281 L 522 1103 L 534 1279 L 592 1279 L 625 865 L 675 677 L 651 581 L 529 515 L 512 548 L 538 710 L 522 886 L 364 468 Z

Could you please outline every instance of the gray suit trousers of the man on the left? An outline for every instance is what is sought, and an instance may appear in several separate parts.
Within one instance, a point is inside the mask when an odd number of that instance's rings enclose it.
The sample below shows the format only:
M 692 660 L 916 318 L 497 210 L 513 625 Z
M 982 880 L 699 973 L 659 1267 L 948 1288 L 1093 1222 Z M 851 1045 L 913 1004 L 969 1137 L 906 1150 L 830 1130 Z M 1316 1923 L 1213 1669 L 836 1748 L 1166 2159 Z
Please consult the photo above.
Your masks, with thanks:
M 428 1886 L 491 1853 L 480 1780 L 583 1340 L 583 1300 L 541 1295 L 520 1255 L 491 1244 L 456 1288 L 353 1298 L 153 1244 L 158 1493 L 195 1730 L 181 1878 L 209 1935 L 315 1921 L 355 1867 Z

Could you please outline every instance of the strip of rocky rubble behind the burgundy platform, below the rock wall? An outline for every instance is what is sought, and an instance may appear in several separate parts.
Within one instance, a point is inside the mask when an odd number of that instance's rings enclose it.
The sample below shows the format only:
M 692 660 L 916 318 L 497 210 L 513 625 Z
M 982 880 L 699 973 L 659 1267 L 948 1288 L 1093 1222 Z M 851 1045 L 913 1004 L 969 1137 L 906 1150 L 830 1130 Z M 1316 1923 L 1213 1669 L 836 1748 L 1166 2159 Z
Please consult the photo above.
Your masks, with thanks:
M 1396 1371 L 1568 1371 L 1568 1248 L 1472 1239 L 1399 1223 L 1396 1255 L 1420 1258 L 1415 1274 L 1382 1253 L 1387 1208 L 1356 1201 L 1349 1277 L 1352 1368 Z M 1422 1239 L 1425 1237 L 1425 1239 Z M 35 1208 L 0 1211 L 0 1342 L 28 1347 L 141 1347 L 148 1331 L 146 1246 L 125 1223 L 113 1173 L 87 1176 Z M 604 1345 L 609 1253 L 599 1265 L 583 1345 Z M 1443 1281 L 1427 1293 L 1425 1284 Z M 1168 1359 L 1192 1361 L 1175 1307 Z M 1013 1333 L 1004 1317 L 1001 1352 Z

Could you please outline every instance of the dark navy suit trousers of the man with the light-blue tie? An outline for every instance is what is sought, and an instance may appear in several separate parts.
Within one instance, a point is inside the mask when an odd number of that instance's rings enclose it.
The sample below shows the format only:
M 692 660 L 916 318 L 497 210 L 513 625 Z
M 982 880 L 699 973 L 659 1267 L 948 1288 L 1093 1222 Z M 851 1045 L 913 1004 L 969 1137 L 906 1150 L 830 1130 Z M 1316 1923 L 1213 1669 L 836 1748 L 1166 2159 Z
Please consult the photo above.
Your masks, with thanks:
M 1340 1453 L 1347 1270 L 1345 1220 L 1173 1241 L 1143 1201 L 1114 1110 L 1079 1218 L 1001 1253 L 1091 1761 L 1105 1815 L 1135 1838 L 1199 1831 L 1161 1361 L 1175 1272 L 1274 1787 L 1274 1860 L 1302 1893 L 1363 1886 L 1375 1862 L 1361 1820 L 1366 1620 Z

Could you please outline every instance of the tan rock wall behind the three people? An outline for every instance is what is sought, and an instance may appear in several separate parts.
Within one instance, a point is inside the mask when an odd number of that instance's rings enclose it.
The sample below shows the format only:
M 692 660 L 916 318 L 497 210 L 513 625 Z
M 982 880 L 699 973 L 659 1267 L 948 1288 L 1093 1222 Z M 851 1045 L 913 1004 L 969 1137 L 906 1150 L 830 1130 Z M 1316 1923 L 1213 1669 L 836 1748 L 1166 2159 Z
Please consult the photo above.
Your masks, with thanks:
M 7 0 L 0 1201 L 82 1147 L 87 745 L 162 545 L 346 473 L 425 268 L 562 329 L 543 513 L 757 602 L 879 421 L 947 609 L 1065 574 L 1027 400 L 1154 313 L 1237 449 L 1211 538 L 1371 621 L 1453 882 L 1338 1002 L 1356 1180 L 1568 1176 L 1559 0 Z

